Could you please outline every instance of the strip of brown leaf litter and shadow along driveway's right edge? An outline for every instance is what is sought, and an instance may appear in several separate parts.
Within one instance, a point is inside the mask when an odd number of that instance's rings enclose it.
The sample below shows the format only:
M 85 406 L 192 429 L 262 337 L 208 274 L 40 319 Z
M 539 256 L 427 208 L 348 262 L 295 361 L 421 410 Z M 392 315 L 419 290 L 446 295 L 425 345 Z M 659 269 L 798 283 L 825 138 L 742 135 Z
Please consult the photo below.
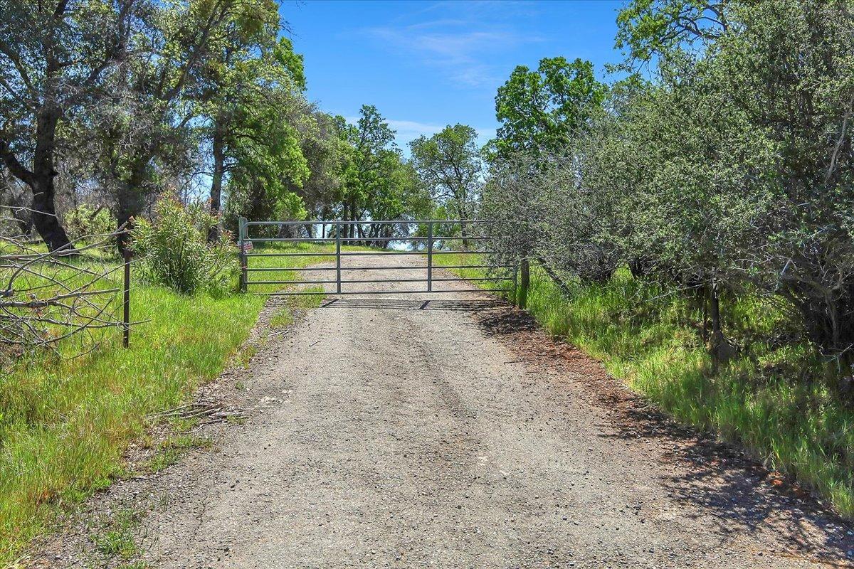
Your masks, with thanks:
M 654 441 L 664 466 L 658 470 L 660 484 L 681 515 L 711 521 L 723 535 L 774 531 L 791 545 L 775 554 L 854 567 L 851 523 L 823 508 L 808 491 L 711 434 L 676 423 L 612 379 L 594 358 L 551 340 L 528 313 L 494 311 L 481 316 L 479 324 L 532 366 L 557 364 L 567 376 L 582 374 L 579 385 L 589 391 L 590 401 L 608 411 L 600 437 L 625 444 Z

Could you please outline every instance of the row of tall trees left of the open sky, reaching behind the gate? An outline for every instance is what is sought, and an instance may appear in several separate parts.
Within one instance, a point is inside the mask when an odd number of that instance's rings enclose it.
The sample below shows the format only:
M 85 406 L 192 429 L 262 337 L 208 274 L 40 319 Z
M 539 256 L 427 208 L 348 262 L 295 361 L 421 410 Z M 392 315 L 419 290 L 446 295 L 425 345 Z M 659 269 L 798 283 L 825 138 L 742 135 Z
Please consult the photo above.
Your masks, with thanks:
M 424 139 L 407 160 L 375 107 L 354 125 L 324 113 L 307 100 L 278 10 L 273 0 L 0 0 L 3 232 L 34 232 L 56 250 L 105 215 L 116 226 L 149 217 L 161 196 L 208 199 L 222 220 L 212 240 L 238 216 L 471 212 L 476 133 L 449 127 L 434 138 L 461 146 L 436 154 Z M 462 179 L 436 177 L 446 151 Z M 366 242 L 408 231 L 347 228 Z

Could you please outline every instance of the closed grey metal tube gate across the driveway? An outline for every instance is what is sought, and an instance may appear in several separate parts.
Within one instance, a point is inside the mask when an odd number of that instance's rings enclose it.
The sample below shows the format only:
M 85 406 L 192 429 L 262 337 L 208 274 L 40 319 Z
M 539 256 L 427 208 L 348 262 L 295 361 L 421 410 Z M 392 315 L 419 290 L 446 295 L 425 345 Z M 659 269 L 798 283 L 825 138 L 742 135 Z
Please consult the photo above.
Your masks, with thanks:
M 483 228 L 484 224 L 488 224 L 488 221 L 483 220 L 397 220 L 397 221 L 366 221 L 366 222 L 354 222 L 354 221 L 311 221 L 311 222 L 295 222 L 295 221 L 249 221 L 246 218 L 239 218 L 238 220 L 238 246 L 240 247 L 240 266 L 241 266 L 241 279 L 240 279 L 240 288 L 243 292 L 251 291 L 251 287 L 257 285 L 334 285 L 335 292 L 329 291 L 304 291 L 304 290 L 277 290 L 272 294 L 278 296 L 291 296 L 291 295 L 299 295 L 299 294 L 330 294 L 330 295 L 338 295 L 338 294 L 407 294 L 407 293 L 473 293 L 473 292 L 511 292 L 516 287 L 516 273 L 515 267 L 509 265 L 487 265 L 481 264 L 479 262 L 475 262 L 472 264 L 453 264 L 453 265 L 439 265 L 434 267 L 433 259 L 436 255 L 448 255 L 448 254 L 456 254 L 456 255 L 464 255 L 464 258 L 471 258 L 473 255 L 488 253 L 483 250 L 481 247 L 476 247 L 474 249 L 467 249 L 465 247 L 459 248 L 447 248 L 449 243 L 460 242 L 461 244 L 465 244 L 465 242 L 471 241 L 474 243 L 482 244 L 488 240 L 488 236 L 483 235 L 482 231 L 477 231 L 475 235 L 434 235 L 434 229 L 443 229 L 448 226 L 460 225 L 466 226 L 468 228 Z M 389 225 L 398 225 L 398 226 L 412 226 L 412 225 L 426 225 L 427 227 L 427 235 L 424 236 L 377 236 L 377 235 L 365 235 L 361 227 L 363 226 L 373 226 L 374 229 L 377 227 L 382 228 L 383 226 Z M 256 235 L 250 235 L 252 233 L 252 228 L 259 228 L 260 233 L 269 234 L 272 231 L 275 233 L 275 236 L 266 236 L 266 235 L 257 235 L 259 233 L 256 230 Z M 319 228 L 319 237 L 315 237 L 315 228 Z M 291 236 L 295 232 L 299 232 L 305 229 L 309 234 L 307 237 L 295 237 Z M 359 233 L 360 235 L 355 236 L 354 234 Z M 342 235 L 343 234 L 343 235 Z M 333 236 L 334 235 L 334 236 Z M 350 235 L 350 236 L 348 236 Z M 376 246 L 379 243 L 389 244 L 389 243 L 408 243 L 409 248 L 407 250 L 404 249 L 394 249 L 389 250 L 388 248 L 377 249 L 376 251 L 350 251 L 350 250 L 342 250 L 342 247 L 346 247 L 348 245 L 365 245 L 365 244 L 373 244 Z M 319 252 L 302 252 L 302 251 L 289 251 L 286 248 L 276 247 L 277 244 L 290 244 L 295 245 L 299 243 L 309 243 L 309 244 L 321 244 L 321 243 L 334 243 L 335 251 L 319 251 Z M 256 248 L 255 246 L 261 245 L 261 247 Z M 388 264 L 374 264 L 371 263 L 371 259 L 382 258 L 387 255 L 421 255 L 426 258 L 426 264 L 424 265 L 414 265 L 414 266 L 394 266 Z M 334 261 L 334 267 L 318 267 L 318 266 L 309 266 L 309 267 L 269 267 L 269 266 L 253 266 L 254 258 L 294 258 L 294 257 L 319 257 L 319 258 L 328 258 L 329 261 Z M 360 263 L 356 266 L 349 266 L 347 264 L 342 264 L 342 258 L 364 258 L 365 262 Z M 473 258 L 476 260 L 477 258 Z M 440 273 L 436 276 L 436 269 L 505 269 L 512 270 L 512 276 L 477 276 L 472 278 L 463 278 L 459 276 L 455 276 L 452 273 Z M 348 273 L 354 270 L 403 270 L 410 273 L 410 276 L 406 276 L 403 278 L 377 278 L 377 279 L 353 279 L 348 278 Z M 334 271 L 334 280 L 329 278 L 325 280 L 300 280 L 300 281 L 276 281 L 270 280 L 268 278 L 256 277 L 251 278 L 253 275 L 264 275 L 265 273 L 271 273 L 275 271 L 295 271 L 296 273 L 302 274 L 306 271 Z M 423 276 L 422 276 L 423 273 Z M 468 282 L 468 281 L 484 281 L 489 282 L 488 287 L 477 287 L 477 288 L 456 288 L 456 289 L 447 289 L 442 288 L 442 283 L 445 282 Z M 358 285 L 365 283 L 388 283 L 389 285 L 393 283 L 424 283 L 424 288 L 419 288 L 418 290 L 394 290 L 391 287 L 381 287 L 375 290 L 359 290 Z M 500 287 L 500 283 L 502 282 L 511 282 L 510 286 Z M 356 289 L 354 290 L 354 285 L 356 285 Z

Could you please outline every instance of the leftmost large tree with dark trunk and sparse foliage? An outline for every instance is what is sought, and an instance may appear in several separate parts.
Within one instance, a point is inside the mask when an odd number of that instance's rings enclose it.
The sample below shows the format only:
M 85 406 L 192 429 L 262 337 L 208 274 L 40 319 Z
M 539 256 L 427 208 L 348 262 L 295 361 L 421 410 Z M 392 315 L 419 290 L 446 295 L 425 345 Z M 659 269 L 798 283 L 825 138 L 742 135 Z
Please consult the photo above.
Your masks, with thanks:
M 107 89 L 142 4 L 0 3 L 0 160 L 29 187 L 32 220 L 50 250 L 68 245 L 55 203 L 60 136 Z

